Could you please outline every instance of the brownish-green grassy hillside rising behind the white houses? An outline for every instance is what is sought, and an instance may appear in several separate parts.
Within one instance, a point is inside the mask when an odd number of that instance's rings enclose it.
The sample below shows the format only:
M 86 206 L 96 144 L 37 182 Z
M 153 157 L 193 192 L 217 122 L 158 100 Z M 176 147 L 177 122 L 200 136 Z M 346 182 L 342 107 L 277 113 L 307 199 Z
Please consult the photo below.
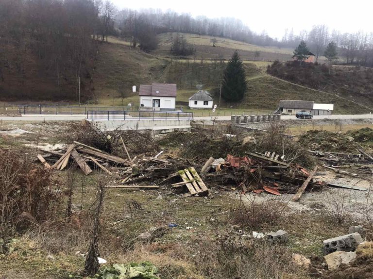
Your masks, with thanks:
M 169 55 L 162 55 L 162 47 L 170 47 L 171 33 L 161 34 L 161 49 L 147 54 L 137 48 L 130 48 L 128 42 L 118 38 L 109 38 L 109 43 L 97 44 L 95 57 L 89 67 L 89 77 L 82 78 L 82 84 L 89 88 L 92 98 L 90 102 L 98 105 L 118 106 L 132 103 L 135 107 L 139 105 L 138 93 L 132 93 L 132 86 L 152 82 L 176 83 L 178 87 L 177 104 L 186 104 L 187 99 L 197 91 L 196 85 L 202 84 L 203 89 L 210 91 L 216 103 L 219 100 L 220 81 L 225 67 L 224 62 L 211 61 L 206 57 L 192 60 L 175 60 Z M 227 58 L 231 55 L 234 47 L 241 47 L 240 51 L 247 53 L 258 49 L 269 53 L 268 55 L 290 55 L 289 50 L 273 49 L 266 47 L 255 47 L 249 44 L 243 44 L 232 40 L 221 41 L 218 39 L 218 47 L 207 46 L 209 39 L 206 36 L 189 36 L 191 42 L 200 43 L 201 49 L 220 49 L 226 51 Z M 168 45 L 169 44 L 169 45 Z M 211 44 L 210 44 L 211 45 Z M 271 52 L 273 51 L 273 52 Z M 275 51 L 278 51 L 277 54 Z M 207 53 L 206 52 L 206 53 Z M 17 52 L 13 53 L 15 57 Z M 45 92 L 53 91 L 56 88 L 55 80 L 50 80 L 47 74 L 38 70 L 37 59 L 28 56 L 29 73 L 35 73 L 34 76 L 18 79 L 19 83 L 14 84 L 14 90 L 22 92 L 26 87 L 34 88 L 37 94 L 37 102 L 47 100 L 44 98 Z M 211 55 L 211 58 L 214 58 Z M 249 56 L 244 59 L 250 59 Z M 302 86 L 291 84 L 284 80 L 273 78 L 266 74 L 267 66 L 270 62 L 262 61 L 244 61 L 249 91 L 245 99 L 240 103 L 225 104 L 222 107 L 233 106 L 234 109 L 265 109 L 273 111 L 277 108 L 280 99 L 301 99 L 314 100 L 315 102 L 334 103 L 336 113 L 362 113 L 367 112 L 364 106 L 358 105 L 348 99 L 343 99 L 331 93 L 317 92 Z M 33 78 L 35 77 L 35 78 Z M 38 78 L 37 78 L 38 77 Z M 11 77 L 6 76 L 8 80 Z M 47 82 L 48 81 L 48 82 Z M 0 81 L 1 88 L 1 81 Z M 69 103 L 77 103 L 74 84 L 67 88 L 73 92 Z M 30 102 L 19 99 L 19 102 Z M 358 100 L 356 100 L 358 102 Z M 44 102 L 45 103 L 45 102 Z M 360 102 L 362 104 L 362 102 Z M 186 108 L 186 107 L 185 107 Z

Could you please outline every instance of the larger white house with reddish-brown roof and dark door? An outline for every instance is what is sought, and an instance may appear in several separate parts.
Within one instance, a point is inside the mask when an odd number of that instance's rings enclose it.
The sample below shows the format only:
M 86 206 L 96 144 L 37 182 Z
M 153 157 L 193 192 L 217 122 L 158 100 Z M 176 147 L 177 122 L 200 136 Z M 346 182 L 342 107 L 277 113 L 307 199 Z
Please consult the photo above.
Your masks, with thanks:
M 153 110 L 174 110 L 176 99 L 176 84 L 153 83 L 140 85 L 140 107 Z

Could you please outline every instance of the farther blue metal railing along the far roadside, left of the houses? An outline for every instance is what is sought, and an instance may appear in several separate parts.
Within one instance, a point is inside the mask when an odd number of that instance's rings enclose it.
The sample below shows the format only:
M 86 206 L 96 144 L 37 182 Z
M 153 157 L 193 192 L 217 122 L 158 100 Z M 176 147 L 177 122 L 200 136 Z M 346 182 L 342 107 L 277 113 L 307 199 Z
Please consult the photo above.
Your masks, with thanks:
M 87 111 L 131 111 L 127 107 L 18 106 L 20 114 L 87 114 Z

